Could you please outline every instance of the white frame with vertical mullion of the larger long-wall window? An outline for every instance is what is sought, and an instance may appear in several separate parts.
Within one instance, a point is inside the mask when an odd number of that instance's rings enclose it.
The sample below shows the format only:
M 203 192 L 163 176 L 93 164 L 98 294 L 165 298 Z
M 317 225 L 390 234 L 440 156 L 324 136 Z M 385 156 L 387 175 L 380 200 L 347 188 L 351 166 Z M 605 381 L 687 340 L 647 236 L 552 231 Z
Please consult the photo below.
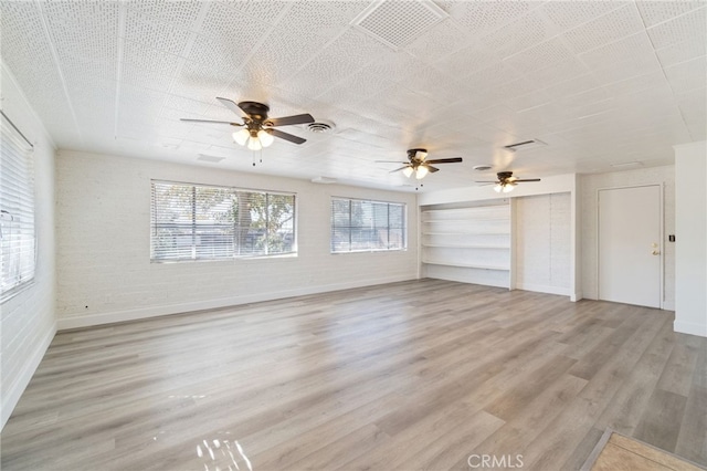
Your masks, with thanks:
M 176 257 L 176 258 L 169 258 L 169 257 L 159 257 L 156 258 L 155 257 L 155 245 L 154 245 L 154 241 L 155 241 L 155 230 L 156 230 L 156 224 L 159 224 L 155 221 L 155 184 L 158 185 L 175 185 L 175 186 L 187 186 L 187 187 L 191 187 L 192 189 L 192 193 L 191 193 L 191 202 L 190 206 L 192 208 L 192 219 L 191 219 L 191 223 L 189 224 L 192 229 L 192 243 L 193 245 L 191 247 L 191 257 L 187 258 L 187 257 Z M 198 217 L 196 208 L 197 208 L 197 203 L 198 201 L 196 200 L 196 189 L 197 187 L 199 188 L 205 188 L 205 189 L 223 189 L 223 190 L 230 190 L 232 191 L 234 195 L 239 193 L 239 192 L 246 192 L 246 193 L 260 193 L 260 195 L 265 195 L 265 198 L 267 200 L 268 197 L 271 196 L 287 196 L 287 197 L 292 197 L 292 250 L 287 251 L 287 252 L 275 252 L 275 253 L 236 253 L 235 251 L 235 247 L 234 247 L 234 252 L 233 255 L 226 255 L 226 257 L 198 257 L 198 252 L 199 252 L 199 245 L 197 245 L 196 240 L 197 240 L 197 230 L 199 229 L 199 224 L 196 223 L 196 219 Z M 297 247 L 297 193 L 294 191 L 276 191 L 276 190 L 267 190 L 267 189 L 260 189 L 260 188 L 242 188 L 242 187 L 234 187 L 234 186 L 228 186 L 228 185 L 214 185 L 214 184 L 201 184 L 201 182 L 192 182 L 192 181 L 176 181 L 176 180 L 162 180 L 162 179 L 156 179 L 152 178 L 150 179 L 150 226 L 149 226 L 149 231 L 150 231 L 150 263 L 181 263 L 181 262 L 229 262 L 229 261 L 235 261 L 235 260 L 253 260 L 253 259 L 277 259 L 277 258 L 296 258 L 298 255 L 298 247 Z M 267 211 L 266 213 L 266 218 L 270 214 L 270 211 Z M 267 219 L 265 221 L 265 231 L 266 231 L 266 237 L 267 237 L 267 227 L 270 226 Z M 234 221 L 233 224 L 231 226 L 233 228 L 234 233 L 239 230 L 238 223 Z M 266 244 L 267 248 L 267 244 Z

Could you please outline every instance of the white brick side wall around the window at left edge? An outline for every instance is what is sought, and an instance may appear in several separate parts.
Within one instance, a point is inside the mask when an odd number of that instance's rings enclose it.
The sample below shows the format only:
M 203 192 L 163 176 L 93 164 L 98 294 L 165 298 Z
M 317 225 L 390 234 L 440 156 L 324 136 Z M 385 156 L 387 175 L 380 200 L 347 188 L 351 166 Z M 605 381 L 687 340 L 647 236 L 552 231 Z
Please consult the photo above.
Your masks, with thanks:
M 54 144 L 2 65 L 2 112 L 34 145 L 34 283 L 0 305 L 0 428 L 4 426 L 56 333 L 54 316 Z

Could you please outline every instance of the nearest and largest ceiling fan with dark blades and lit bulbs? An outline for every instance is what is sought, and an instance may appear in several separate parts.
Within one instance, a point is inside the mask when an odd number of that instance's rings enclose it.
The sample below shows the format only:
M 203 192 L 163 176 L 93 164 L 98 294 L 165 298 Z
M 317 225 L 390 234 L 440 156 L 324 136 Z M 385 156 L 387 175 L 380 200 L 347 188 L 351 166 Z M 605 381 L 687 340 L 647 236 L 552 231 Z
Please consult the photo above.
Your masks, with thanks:
M 240 102 L 236 104 L 229 98 L 217 97 L 217 100 L 235 114 L 244 113 L 245 116 L 243 116 L 243 123 L 193 118 L 181 118 L 180 121 L 188 123 L 228 124 L 240 127 L 240 130 L 233 133 L 233 140 L 241 146 L 246 146 L 251 150 L 261 150 L 263 147 L 270 146 L 275 140 L 275 137 L 288 140 L 293 144 L 304 144 L 307 139 L 303 139 L 294 134 L 282 132 L 276 129 L 276 127 L 314 123 L 314 117 L 308 113 L 271 118 L 267 116 L 270 106 L 263 103 Z M 253 165 L 255 165 L 255 163 L 253 163 Z

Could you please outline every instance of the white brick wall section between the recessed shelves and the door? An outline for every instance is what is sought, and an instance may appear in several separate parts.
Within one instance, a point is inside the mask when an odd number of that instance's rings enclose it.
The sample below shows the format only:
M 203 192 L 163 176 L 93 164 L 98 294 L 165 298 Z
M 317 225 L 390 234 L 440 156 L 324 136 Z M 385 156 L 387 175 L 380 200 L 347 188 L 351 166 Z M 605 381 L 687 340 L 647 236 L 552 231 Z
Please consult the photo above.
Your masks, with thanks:
M 570 193 L 528 196 L 514 201 L 516 287 L 570 295 Z

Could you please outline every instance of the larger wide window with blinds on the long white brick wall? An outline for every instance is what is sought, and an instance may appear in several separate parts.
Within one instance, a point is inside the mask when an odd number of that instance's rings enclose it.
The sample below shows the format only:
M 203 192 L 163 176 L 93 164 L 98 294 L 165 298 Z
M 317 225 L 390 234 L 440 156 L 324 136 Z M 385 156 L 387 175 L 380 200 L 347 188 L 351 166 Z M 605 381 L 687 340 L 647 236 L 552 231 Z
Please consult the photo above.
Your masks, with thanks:
M 152 181 L 150 258 L 219 260 L 296 253 L 295 195 Z

